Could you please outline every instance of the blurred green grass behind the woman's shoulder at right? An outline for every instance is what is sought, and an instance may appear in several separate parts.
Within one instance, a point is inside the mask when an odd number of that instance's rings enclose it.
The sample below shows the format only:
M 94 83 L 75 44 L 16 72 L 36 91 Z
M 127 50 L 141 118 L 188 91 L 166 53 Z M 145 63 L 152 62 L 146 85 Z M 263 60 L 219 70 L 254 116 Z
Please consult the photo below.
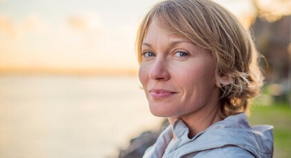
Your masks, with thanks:
M 272 106 L 252 106 L 250 124 L 271 124 L 274 126 L 274 157 L 290 157 L 291 106 L 283 103 Z

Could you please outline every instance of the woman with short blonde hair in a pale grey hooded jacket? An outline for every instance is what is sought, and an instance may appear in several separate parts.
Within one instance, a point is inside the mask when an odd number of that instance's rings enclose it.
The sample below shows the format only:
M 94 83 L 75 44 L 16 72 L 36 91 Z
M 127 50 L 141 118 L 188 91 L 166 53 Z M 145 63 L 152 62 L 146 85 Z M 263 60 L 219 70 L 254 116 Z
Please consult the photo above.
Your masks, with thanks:
M 137 34 L 150 111 L 170 126 L 143 157 L 272 157 L 272 126 L 248 124 L 263 78 L 247 30 L 207 0 L 154 5 Z

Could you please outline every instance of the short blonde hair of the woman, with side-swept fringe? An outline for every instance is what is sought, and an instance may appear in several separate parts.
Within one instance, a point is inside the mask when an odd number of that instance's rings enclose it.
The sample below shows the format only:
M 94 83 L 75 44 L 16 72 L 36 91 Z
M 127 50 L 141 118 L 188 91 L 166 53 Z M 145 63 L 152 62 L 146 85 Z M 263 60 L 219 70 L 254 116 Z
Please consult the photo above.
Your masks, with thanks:
M 249 111 L 250 98 L 259 95 L 263 77 L 259 53 L 250 32 L 221 5 L 208 0 L 166 0 L 154 5 L 141 21 L 136 49 L 141 63 L 141 43 L 155 21 L 164 30 L 188 38 L 214 56 L 216 81 L 221 84 L 221 117 Z

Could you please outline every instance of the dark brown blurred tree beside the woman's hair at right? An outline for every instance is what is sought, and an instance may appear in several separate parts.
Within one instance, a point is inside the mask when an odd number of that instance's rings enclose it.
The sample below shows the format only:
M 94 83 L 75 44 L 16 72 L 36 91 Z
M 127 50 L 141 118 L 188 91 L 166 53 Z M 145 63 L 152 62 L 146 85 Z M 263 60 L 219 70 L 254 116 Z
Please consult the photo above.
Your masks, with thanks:
M 285 16 L 273 23 L 257 19 L 252 25 L 257 49 L 268 61 L 265 71 L 269 82 L 288 78 L 290 24 L 291 16 Z

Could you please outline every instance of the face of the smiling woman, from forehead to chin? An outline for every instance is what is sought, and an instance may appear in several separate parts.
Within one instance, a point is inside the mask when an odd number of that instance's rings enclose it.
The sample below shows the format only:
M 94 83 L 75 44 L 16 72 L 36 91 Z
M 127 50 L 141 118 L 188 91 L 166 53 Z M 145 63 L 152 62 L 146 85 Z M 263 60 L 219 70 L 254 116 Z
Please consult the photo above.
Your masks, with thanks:
M 208 50 L 165 32 L 154 21 L 141 49 L 139 80 L 153 115 L 183 117 L 217 106 L 220 90 Z

